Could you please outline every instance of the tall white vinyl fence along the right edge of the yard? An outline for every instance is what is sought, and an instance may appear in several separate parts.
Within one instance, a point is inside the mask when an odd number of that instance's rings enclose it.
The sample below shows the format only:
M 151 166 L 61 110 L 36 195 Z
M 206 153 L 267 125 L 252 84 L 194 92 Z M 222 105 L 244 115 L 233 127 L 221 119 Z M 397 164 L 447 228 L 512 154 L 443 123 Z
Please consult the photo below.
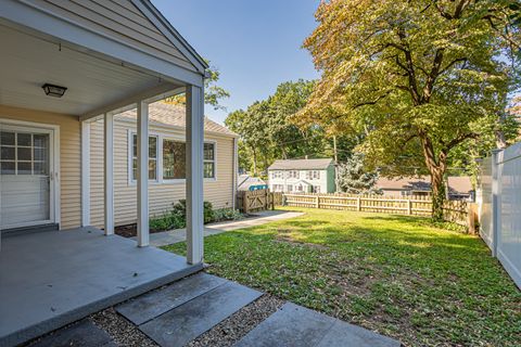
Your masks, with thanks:
M 521 288 L 521 143 L 495 153 L 482 172 L 482 237 Z

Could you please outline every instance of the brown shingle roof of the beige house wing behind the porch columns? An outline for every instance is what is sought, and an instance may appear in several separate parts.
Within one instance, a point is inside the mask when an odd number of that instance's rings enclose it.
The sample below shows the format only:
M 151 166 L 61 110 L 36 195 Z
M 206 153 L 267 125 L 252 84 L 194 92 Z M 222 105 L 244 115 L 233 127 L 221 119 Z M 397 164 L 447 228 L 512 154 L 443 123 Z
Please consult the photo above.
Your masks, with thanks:
M 116 116 L 117 118 L 137 119 L 137 110 L 126 111 Z M 149 106 L 149 124 L 155 126 L 176 126 L 186 127 L 186 112 L 183 106 L 166 104 L 164 102 L 154 102 Z M 204 131 L 238 137 L 225 126 L 221 126 L 208 117 L 204 117 Z

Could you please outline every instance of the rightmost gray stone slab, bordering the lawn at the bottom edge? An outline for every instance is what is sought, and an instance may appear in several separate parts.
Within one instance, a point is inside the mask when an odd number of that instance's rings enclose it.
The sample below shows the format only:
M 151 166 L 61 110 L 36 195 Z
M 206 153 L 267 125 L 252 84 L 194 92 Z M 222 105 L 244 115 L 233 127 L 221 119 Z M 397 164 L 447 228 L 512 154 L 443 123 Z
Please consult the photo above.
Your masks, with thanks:
M 399 347 L 399 342 L 335 318 L 284 304 L 234 346 Z

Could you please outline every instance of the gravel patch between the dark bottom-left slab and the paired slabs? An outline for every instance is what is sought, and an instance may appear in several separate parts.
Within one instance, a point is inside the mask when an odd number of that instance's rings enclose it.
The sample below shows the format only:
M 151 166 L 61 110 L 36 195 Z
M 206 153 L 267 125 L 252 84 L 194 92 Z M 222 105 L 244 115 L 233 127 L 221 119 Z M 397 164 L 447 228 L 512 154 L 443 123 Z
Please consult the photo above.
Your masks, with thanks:
M 157 347 L 151 338 L 144 335 L 138 326 L 117 314 L 114 308 L 90 316 L 90 320 L 103 329 L 118 346 L 125 347 Z

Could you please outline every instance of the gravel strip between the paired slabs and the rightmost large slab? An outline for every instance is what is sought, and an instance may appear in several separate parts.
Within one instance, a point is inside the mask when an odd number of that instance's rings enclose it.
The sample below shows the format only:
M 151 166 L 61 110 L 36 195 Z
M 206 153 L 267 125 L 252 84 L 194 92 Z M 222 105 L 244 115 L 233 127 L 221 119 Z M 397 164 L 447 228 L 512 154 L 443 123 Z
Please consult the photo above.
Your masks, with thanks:
M 199 336 L 188 347 L 228 347 L 232 346 L 262 321 L 277 311 L 285 301 L 265 294 L 252 304 L 243 307 L 212 330 Z

